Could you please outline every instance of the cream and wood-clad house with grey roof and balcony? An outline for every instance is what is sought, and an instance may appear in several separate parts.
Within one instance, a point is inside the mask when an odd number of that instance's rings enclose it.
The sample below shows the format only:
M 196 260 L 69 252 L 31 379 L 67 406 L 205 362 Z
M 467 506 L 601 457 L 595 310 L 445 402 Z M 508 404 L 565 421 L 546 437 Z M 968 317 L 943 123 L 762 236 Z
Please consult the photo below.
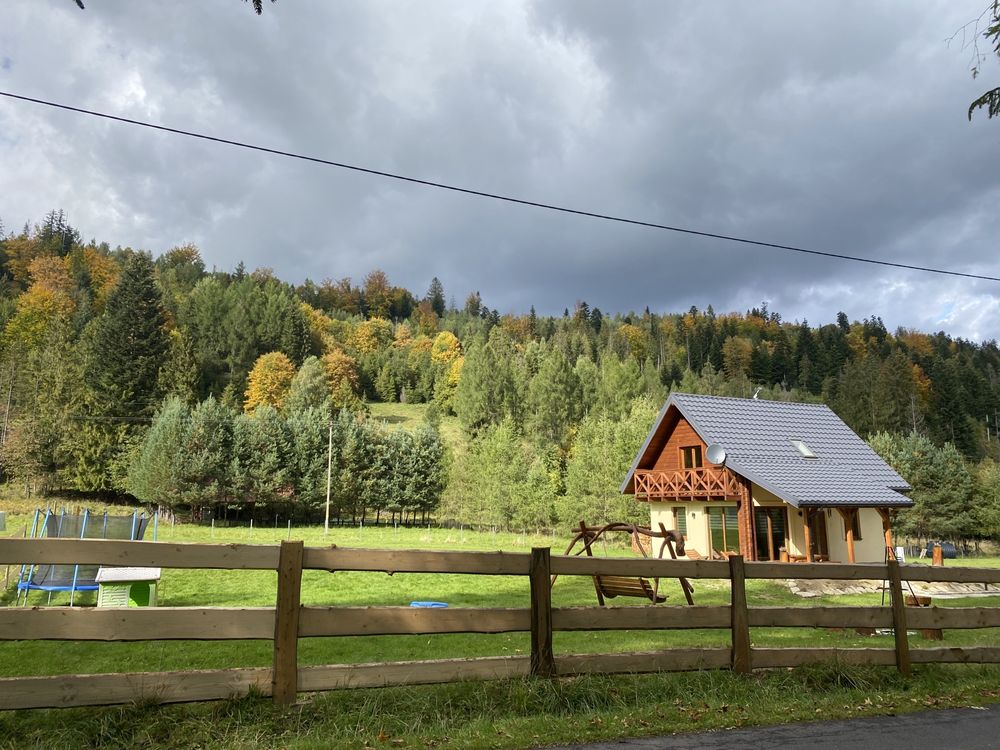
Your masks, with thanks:
M 828 407 L 673 393 L 621 491 L 706 557 L 882 562 L 911 488 Z

